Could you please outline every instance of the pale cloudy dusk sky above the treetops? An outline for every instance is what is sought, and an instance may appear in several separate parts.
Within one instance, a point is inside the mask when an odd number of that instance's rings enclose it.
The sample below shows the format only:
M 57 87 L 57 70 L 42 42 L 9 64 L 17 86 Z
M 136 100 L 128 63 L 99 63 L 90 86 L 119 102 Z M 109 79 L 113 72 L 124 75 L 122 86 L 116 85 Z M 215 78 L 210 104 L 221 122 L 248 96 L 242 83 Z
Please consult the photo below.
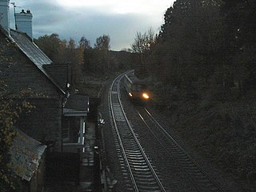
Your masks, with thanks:
M 12 2 L 10 0 L 10 2 Z M 16 0 L 16 12 L 31 10 L 33 35 L 57 33 L 76 42 L 82 36 L 94 46 L 102 34 L 110 35 L 110 50 L 130 48 L 137 32 L 158 33 L 164 14 L 174 0 Z M 10 5 L 10 26 L 14 28 Z

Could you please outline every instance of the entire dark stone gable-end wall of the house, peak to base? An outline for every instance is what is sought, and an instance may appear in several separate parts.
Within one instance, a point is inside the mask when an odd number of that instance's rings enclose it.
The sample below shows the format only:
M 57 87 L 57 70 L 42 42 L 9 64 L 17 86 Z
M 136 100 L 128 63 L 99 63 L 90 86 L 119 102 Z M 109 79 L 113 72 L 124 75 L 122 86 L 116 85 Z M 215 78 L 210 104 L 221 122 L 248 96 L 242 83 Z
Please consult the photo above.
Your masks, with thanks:
M 30 96 L 26 100 L 31 102 L 35 109 L 22 114 L 17 126 L 38 141 L 56 142 L 54 150 L 61 150 L 64 95 L 1 31 L 0 80 L 6 83 L 8 90 L 16 94 L 22 89 L 34 91 L 33 98 Z

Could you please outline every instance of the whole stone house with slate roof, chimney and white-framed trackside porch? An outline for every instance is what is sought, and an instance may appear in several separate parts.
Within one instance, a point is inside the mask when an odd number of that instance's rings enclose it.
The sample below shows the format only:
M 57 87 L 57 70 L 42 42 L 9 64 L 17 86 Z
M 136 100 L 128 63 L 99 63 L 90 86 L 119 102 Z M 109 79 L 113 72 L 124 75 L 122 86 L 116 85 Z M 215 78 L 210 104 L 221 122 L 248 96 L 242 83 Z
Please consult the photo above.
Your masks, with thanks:
M 47 159 L 50 163 L 55 161 L 51 165 L 48 164 L 48 168 L 56 170 L 57 165 L 60 171 L 63 171 L 64 164 L 60 165 L 58 161 L 64 157 L 63 152 L 71 158 L 77 156 L 78 163 L 80 153 L 85 153 L 85 131 L 89 125 L 90 112 L 89 98 L 70 94 L 70 65 L 53 63 L 34 44 L 33 34 L 26 34 L 22 27 L 19 26 L 18 30 L 10 29 L 9 3 L 9 0 L 0 0 L 0 81 L 5 82 L 7 89 L 14 94 L 21 93 L 21 90 L 29 90 L 30 94 L 22 97 L 34 108 L 20 115 L 15 126 L 27 137 L 48 146 L 47 152 L 51 152 L 52 158 L 47 153 L 46 164 Z M 22 156 L 29 158 L 26 153 Z M 74 170 L 73 166 L 74 161 L 70 164 L 71 170 Z M 75 166 L 79 167 L 79 164 Z M 58 174 L 58 171 L 55 172 Z M 34 177 L 37 176 L 31 175 L 31 179 Z M 36 181 L 41 183 L 39 180 Z

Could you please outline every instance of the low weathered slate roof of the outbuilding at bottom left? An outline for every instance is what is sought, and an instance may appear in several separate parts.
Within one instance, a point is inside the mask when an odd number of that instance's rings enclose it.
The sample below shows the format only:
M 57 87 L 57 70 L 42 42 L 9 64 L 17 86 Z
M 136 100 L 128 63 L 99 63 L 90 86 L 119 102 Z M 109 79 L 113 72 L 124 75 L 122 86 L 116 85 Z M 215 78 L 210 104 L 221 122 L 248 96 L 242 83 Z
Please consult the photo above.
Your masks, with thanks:
M 14 173 L 29 182 L 33 178 L 34 172 L 38 170 L 46 146 L 34 138 L 30 138 L 22 131 L 17 131 L 18 134 L 10 147 L 10 161 Z

